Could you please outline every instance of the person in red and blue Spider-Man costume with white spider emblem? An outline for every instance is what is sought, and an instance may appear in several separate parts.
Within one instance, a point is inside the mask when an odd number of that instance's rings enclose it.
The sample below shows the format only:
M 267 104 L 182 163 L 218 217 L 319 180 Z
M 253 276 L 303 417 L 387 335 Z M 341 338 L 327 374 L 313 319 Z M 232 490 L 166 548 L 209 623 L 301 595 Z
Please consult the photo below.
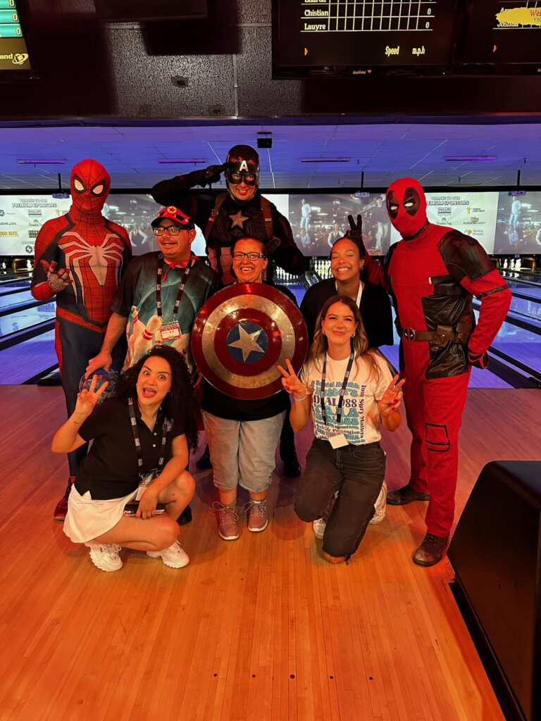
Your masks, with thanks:
M 48 301 L 56 295 L 55 350 L 68 415 L 75 410 L 89 358 L 100 352 L 115 291 L 131 260 L 126 230 L 102 216 L 109 190 L 110 176 L 100 163 L 87 159 L 76 164 L 69 212 L 47 221 L 35 243 L 32 296 Z M 56 274 L 55 267 L 61 269 Z M 125 355 L 126 347 L 119 344 L 115 370 L 120 371 Z M 86 454 L 87 444 L 68 454 L 70 476 Z

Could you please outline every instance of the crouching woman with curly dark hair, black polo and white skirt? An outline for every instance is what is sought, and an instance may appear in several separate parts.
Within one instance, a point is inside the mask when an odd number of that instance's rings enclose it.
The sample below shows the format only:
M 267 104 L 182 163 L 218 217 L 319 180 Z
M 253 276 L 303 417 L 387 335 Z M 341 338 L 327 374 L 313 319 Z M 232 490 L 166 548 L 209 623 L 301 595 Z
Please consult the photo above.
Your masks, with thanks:
M 105 384 L 77 397 L 74 413 L 53 438 L 53 451 L 69 453 L 94 439 L 69 496 L 64 532 L 90 549 L 104 571 L 122 567 L 121 547 L 161 557 L 173 568 L 189 559 L 177 541 L 176 518 L 195 491 L 185 470 L 188 446 L 197 446 L 195 399 L 188 368 L 174 348 L 157 346 L 120 377 L 114 396 L 96 407 Z M 156 476 L 144 490 L 134 516 L 141 479 Z M 141 490 L 143 490 L 141 495 Z M 157 505 L 164 513 L 157 515 Z

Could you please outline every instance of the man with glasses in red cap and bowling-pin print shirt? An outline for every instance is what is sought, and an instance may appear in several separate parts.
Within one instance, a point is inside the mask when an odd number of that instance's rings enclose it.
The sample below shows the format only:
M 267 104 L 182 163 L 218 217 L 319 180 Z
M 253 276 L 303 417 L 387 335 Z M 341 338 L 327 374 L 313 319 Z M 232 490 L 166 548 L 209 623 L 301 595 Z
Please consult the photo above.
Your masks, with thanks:
M 191 369 L 190 332 L 195 316 L 219 286 L 218 276 L 192 252 L 195 228 L 174 205 L 162 208 L 151 223 L 158 252 L 134 258 L 118 288 L 102 349 L 91 358 L 87 374 L 110 368 L 111 350 L 126 332 L 124 368 L 154 345 L 176 348 Z

